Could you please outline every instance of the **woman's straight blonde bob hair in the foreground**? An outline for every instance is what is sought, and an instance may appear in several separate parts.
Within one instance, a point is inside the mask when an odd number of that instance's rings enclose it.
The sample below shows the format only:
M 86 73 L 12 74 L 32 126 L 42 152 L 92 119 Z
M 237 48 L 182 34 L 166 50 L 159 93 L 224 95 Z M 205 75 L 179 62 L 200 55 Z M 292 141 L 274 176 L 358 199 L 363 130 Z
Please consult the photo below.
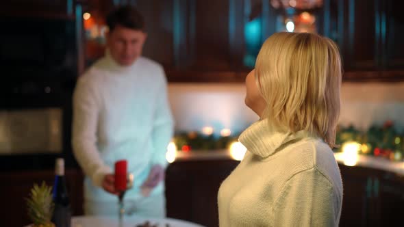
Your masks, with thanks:
M 266 101 L 262 119 L 284 131 L 307 131 L 331 148 L 340 114 L 338 46 L 316 34 L 273 34 L 258 54 L 255 79 Z

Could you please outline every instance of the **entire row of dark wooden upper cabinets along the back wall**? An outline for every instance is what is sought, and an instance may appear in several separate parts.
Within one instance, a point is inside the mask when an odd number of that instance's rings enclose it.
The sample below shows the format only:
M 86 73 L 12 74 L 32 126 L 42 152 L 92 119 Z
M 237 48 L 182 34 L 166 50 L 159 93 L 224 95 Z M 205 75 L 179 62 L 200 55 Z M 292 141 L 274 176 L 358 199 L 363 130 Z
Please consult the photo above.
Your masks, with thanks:
M 77 18 L 90 12 L 98 25 L 114 5 L 131 3 L 144 15 L 144 55 L 160 62 L 172 82 L 242 82 L 261 44 L 285 29 L 291 10 L 269 0 L 16 0 L 2 3 L 1 15 Z M 82 12 L 77 13 L 80 5 Z M 324 0 L 316 16 L 319 34 L 336 41 L 345 81 L 404 80 L 404 16 L 400 0 Z M 299 14 L 304 10 L 295 10 Z M 101 57 L 103 42 L 90 40 L 87 66 Z M 80 55 L 82 56 L 82 55 Z

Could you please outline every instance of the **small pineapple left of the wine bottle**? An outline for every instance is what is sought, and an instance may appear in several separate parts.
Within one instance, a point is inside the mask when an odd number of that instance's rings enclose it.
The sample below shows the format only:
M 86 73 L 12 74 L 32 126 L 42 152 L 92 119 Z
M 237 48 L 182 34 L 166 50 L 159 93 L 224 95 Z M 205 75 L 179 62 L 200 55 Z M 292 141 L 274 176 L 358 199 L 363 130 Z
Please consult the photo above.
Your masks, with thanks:
M 28 217 L 34 223 L 33 227 L 55 227 L 51 222 L 55 204 L 52 201 L 52 187 L 42 182 L 34 184 L 27 198 Z

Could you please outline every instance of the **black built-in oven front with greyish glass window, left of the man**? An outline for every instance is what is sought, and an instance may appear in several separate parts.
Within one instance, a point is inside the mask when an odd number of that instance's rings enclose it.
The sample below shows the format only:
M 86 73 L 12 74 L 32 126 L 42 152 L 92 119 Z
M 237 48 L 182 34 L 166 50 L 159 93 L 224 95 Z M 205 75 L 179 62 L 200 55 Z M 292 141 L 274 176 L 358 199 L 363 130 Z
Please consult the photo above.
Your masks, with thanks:
M 75 167 L 71 149 L 73 77 L 14 78 L 0 84 L 0 170 Z

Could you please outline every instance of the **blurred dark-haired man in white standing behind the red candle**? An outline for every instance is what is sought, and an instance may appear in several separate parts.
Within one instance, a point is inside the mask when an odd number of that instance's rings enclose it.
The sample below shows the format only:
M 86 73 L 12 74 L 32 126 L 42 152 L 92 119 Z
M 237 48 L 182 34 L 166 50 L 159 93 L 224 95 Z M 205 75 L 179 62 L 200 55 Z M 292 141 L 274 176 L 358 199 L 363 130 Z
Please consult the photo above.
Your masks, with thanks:
M 134 187 L 127 214 L 164 217 L 166 146 L 173 118 L 162 66 L 142 57 L 147 38 L 142 15 L 131 6 L 108 15 L 107 51 L 79 78 L 73 97 L 73 150 L 86 174 L 87 215 L 117 215 L 112 170 L 126 159 Z

